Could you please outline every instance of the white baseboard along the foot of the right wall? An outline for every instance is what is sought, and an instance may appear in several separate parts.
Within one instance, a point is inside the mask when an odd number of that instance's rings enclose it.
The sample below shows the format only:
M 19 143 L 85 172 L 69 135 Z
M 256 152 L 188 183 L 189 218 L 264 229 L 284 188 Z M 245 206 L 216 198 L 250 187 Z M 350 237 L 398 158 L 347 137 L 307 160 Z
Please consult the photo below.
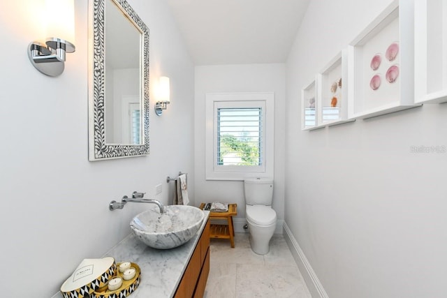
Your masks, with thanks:
M 318 280 L 314 269 L 312 269 L 312 266 L 307 260 L 305 253 L 298 245 L 298 242 L 296 241 L 295 237 L 293 237 L 293 234 L 286 223 L 284 223 L 283 228 L 284 239 L 286 239 L 288 248 L 290 248 L 293 258 L 300 268 L 302 277 L 305 279 L 307 288 L 309 289 L 312 297 L 329 298 L 328 294 L 326 294 L 323 288 L 323 285 L 321 285 L 320 281 Z

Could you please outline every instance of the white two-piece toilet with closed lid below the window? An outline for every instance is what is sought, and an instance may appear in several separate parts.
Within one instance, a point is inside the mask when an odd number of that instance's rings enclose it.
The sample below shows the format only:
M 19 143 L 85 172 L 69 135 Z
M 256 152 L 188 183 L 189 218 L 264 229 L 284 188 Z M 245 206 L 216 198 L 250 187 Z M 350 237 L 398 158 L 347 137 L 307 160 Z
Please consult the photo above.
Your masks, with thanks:
M 277 225 L 277 213 L 272 209 L 273 180 L 244 179 L 244 195 L 251 250 L 265 255 Z

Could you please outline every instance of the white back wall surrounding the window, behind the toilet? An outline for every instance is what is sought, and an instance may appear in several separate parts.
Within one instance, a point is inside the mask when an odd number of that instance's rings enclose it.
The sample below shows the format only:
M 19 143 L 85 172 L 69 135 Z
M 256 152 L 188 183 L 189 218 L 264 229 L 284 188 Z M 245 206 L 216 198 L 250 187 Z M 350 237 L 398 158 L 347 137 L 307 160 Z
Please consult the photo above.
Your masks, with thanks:
M 242 181 L 205 180 L 205 94 L 210 92 L 274 92 L 274 201 L 280 220 L 284 218 L 284 125 L 285 65 L 244 64 L 196 66 L 195 77 L 195 172 L 196 203 L 237 203 L 237 219 L 245 218 Z

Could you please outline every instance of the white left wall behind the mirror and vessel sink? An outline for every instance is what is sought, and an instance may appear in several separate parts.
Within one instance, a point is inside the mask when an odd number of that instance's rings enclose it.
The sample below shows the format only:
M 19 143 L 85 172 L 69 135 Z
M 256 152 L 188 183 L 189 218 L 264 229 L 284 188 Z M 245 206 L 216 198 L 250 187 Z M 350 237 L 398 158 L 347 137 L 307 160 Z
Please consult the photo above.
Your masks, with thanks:
M 193 177 L 193 64 L 166 3 L 129 0 L 150 29 L 150 80 L 170 77 L 163 116 L 151 98 L 149 156 L 89 162 L 87 158 L 87 1 L 75 1 L 76 52 L 66 70 L 47 77 L 27 57 L 44 1 L 2 1 L 0 36 L 0 239 L 3 297 L 51 297 L 84 258 L 100 258 L 129 232 L 131 218 L 149 208 L 110 200 L 133 191 L 172 203 L 179 170 Z M 151 83 L 151 87 L 152 87 Z M 151 91 L 152 92 L 152 91 Z M 193 184 L 189 192 L 193 198 Z M 119 261 L 119 260 L 118 260 Z

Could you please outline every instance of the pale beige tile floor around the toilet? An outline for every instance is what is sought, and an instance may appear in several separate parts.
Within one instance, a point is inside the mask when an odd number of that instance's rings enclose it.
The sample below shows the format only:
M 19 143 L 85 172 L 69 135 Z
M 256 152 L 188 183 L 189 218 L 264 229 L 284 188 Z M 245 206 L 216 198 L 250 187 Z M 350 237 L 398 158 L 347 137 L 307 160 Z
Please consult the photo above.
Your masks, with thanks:
M 274 234 L 267 255 L 251 251 L 249 233 L 211 239 L 210 275 L 204 298 L 312 298 L 282 234 Z

